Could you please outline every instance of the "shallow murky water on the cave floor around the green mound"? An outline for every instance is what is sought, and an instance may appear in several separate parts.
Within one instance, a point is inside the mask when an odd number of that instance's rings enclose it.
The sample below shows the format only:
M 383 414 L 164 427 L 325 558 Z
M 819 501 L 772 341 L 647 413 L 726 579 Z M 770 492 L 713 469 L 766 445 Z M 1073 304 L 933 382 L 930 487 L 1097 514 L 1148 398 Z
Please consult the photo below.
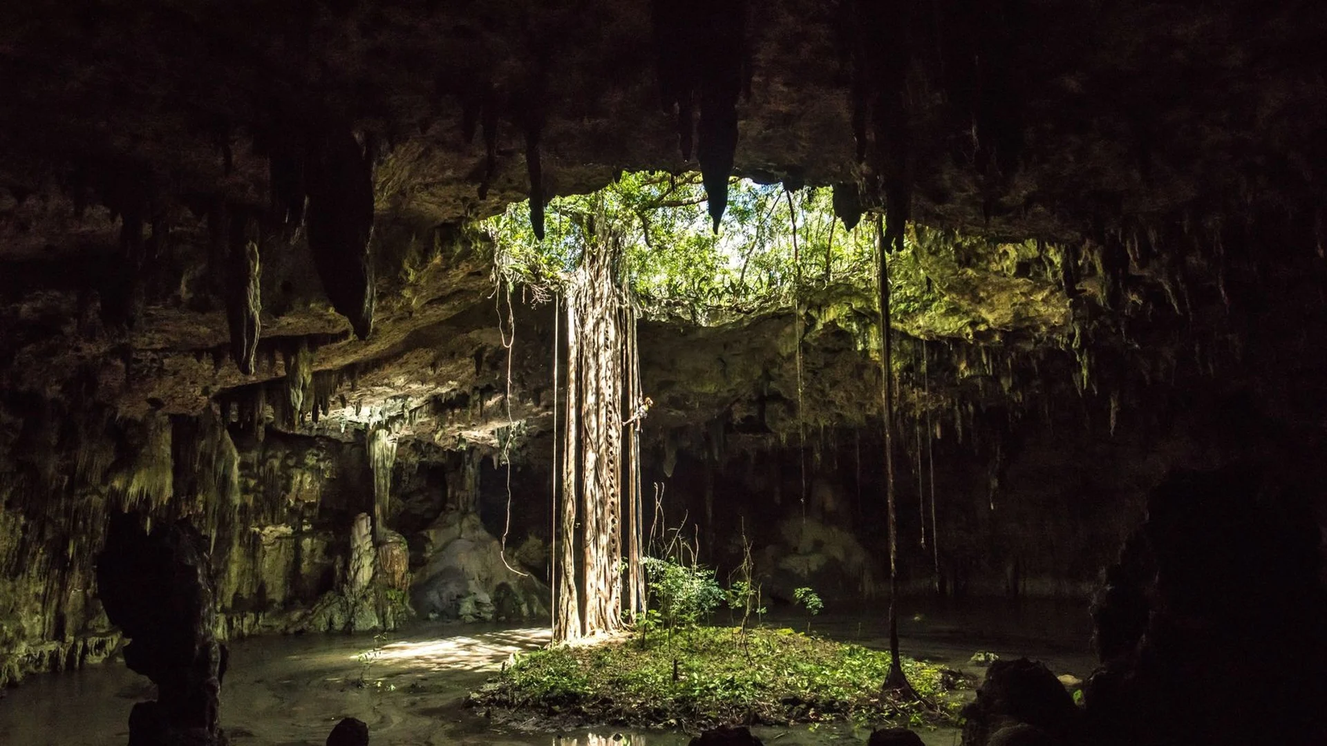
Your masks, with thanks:
M 717 620 L 717 621 L 723 621 Z M 767 623 L 804 628 L 805 617 L 780 613 Z M 821 615 L 812 631 L 828 637 L 886 646 L 884 609 Z M 900 604 L 904 653 L 942 661 L 981 676 L 974 652 L 1040 658 L 1056 674 L 1084 678 L 1088 652 L 1087 604 L 974 601 L 963 605 Z M 368 668 L 361 657 L 372 636 L 260 637 L 231 646 L 222 723 L 235 746 L 321 745 L 342 717 L 369 723 L 373 743 L 462 743 L 502 746 L 620 746 L 614 729 L 555 737 L 495 729 L 462 706 L 464 696 L 507 657 L 548 641 L 547 629 L 483 625 L 426 625 L 390 634 Z M 366 685 L 361 685 L 361 678 Z M 29 677 L 0 697 L 0 743 L 32 746 L 121 745 L 129 710 L 151 697 L 147 680 L 119 662 L 65 674 Z M 863 742 L 845 726 L 754 729 L 767 745 Z M 634 746 L 677 746 L 681 733 L 626 733 Z M 958 743 L 955 729 L 922 733 L 929 746 Z

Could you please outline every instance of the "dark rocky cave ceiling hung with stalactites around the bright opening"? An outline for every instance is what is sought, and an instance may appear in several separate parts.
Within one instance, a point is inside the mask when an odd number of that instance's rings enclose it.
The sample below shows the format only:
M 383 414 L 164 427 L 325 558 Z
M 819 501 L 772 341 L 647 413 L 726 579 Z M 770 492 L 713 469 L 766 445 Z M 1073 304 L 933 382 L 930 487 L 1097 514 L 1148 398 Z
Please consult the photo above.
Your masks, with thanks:
M 1147 346 L 1173 335 L 1154 316 L 1192 333 L 1322 252 L 1315 4 L 37 0 L 5 16 L 11 398 L 243 419 L 296 377 L 322 415 L 280 405 L 275 426 L 394 417 L 496 447 L 508 421 L 548 414 L 551 350 L 522 342 L 552 316 L 523 312 L 508 417 L 502 299 L 472 226 L 624 170 L 856 185 L 890 231 L 971 236 L 987 264 L 1002 242 L 1060 247 L 1056 315 L 987 313 L 1013 332 L 994 344 L 1078 346 L 1084 319 L 1135 319 L 1117 337 Z M 1019 281 L 929 273 L 977 315 Z M 719 338 L 742 372 L 787 354 L 762 324 L 786 320 L 667 333 Z M 661 385 L 707 360 L 661 360 Z M 780 385 L 767 362 L 725 385 L 762 377 Z M 678 397 L 661 417 L 731 406 L 725 385 L 661 396 Z

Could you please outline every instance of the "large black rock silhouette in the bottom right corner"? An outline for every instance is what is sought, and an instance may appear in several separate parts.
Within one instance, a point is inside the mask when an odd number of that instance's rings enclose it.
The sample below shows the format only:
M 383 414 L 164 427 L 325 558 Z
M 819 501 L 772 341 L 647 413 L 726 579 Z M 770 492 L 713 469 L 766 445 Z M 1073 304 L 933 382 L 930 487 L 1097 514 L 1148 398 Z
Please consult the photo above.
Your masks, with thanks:
M 1292 483 L 1245 463 L 1153 491 L 1095 613 L 1084 693 L 1103 742 L 1327 738 L 1320 535 Z

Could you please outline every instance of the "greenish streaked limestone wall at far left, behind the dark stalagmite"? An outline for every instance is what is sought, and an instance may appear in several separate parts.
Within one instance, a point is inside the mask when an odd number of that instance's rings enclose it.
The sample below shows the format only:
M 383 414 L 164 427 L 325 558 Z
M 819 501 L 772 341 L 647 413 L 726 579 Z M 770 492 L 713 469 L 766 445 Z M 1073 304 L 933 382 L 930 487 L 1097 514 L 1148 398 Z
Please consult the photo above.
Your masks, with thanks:
M 49 402 L 48 402 L 49 408 Z M 0 674 L 111 653 L 94 563 L 111 514 L 188 520 L 208 540 L 223 638 L 295 631 L 345 581 L 349 526 L 372 506 L 362 445 L 232 439 L 216 413 L 145 421 L 5 408 Z

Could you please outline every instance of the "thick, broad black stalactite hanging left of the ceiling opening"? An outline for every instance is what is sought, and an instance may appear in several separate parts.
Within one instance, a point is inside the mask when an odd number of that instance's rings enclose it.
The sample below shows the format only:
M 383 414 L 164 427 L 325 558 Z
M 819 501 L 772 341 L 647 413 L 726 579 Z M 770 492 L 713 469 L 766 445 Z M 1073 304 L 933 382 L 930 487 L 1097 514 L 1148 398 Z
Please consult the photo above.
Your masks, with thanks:
M 329 126 L 307 163 L 308 239 L 322 288 L 361 340 L 373 332 L 373 163 L 349 127 Z

